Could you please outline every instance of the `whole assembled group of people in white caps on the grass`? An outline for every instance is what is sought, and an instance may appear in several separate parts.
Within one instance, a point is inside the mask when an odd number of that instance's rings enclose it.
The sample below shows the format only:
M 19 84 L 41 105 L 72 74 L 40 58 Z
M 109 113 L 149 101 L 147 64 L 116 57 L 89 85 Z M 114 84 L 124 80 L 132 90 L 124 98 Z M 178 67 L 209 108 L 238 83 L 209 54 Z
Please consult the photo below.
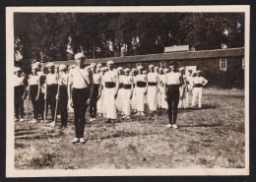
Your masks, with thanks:
M 208 81 L 200 75 L 200 71 L 192 76 L 189 70 L 186 75 L 184 69 L 178 70 L 176 62 L 163 70 L 150 65 L 148 73 L 142 66 L 132 70 L 121 67 L 114 69 L 111 60 L 107 62 L 107 67 L 95 63 L 86 67 L 83 53 L 76 54 L 75 61 L 76 65 L 69 68 L 48 63 L 47 74 L 40 63 L 34 63 L 28 79 L 17 68 L 15 120 L 18 121 L 21 115 L 20 121 L 24 121 L 23 100 L 29 95 L 33 107 L 30 122 L 37 123 L 40 119 L 48 122 L 46 117 L 50 107 L 51 120 L 55 121 L 56 115 L 60 115 L 60 128 L 65 129 L 68 110 L 72 111 L 76 133 L 72 143 L 85 143 L 85 114 L 88 107 L 91 122 L 96 120 L 97 112 L 111 123 L 117 119 L 118 111 L 123 119 L 130 118 L 131 113 L 145 115 L 147 102 L 151 114 L 155 114 L 158 108 L 167 110 L 169 124 L 166 127 L 175 129 L 178 108 L 188 107 L 189 92 L 193 93 L 191 106 L 196 105 L 198 97 L 198 107 L 202 107 L 202 88 Z

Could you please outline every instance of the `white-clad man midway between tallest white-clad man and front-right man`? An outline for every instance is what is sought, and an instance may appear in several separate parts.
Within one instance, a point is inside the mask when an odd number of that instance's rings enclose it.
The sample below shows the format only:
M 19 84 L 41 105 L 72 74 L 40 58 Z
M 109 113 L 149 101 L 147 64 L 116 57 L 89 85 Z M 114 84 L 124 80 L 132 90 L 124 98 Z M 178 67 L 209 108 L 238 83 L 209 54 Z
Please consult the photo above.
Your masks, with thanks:
M 145 95 L 148 91 L 147 72 L 143 74 L 143 67 L 138 66 L 138 75 L 136 76 L 136 115 L 145 115 Z

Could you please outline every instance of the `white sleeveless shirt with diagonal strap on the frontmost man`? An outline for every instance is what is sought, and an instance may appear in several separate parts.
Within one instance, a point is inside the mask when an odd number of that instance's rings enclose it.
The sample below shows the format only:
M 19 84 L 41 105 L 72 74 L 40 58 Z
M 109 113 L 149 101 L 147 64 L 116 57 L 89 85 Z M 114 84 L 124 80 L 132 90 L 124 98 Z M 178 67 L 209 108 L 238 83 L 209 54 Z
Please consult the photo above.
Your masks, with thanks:
M 70 82 L 73 82 L 73 88 L 84 89 L 89 87 L 87 85 L 90 84 L 88 69 L 89 67 L 86 67 L 85 69 L 80 69 L 79 67 L 76 67 L 71 70 Z M 85 82 L 85 80 L 87 81 L 87 83 Z

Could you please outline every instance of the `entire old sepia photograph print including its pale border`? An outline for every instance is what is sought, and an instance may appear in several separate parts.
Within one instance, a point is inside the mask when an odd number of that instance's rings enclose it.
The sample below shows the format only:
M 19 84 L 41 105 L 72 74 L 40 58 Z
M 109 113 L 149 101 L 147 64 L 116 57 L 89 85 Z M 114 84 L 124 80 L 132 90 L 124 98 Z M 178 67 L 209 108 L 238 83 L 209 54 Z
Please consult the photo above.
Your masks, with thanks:
M 249 15 L 7 7 L 7 177 L 248 175 Z

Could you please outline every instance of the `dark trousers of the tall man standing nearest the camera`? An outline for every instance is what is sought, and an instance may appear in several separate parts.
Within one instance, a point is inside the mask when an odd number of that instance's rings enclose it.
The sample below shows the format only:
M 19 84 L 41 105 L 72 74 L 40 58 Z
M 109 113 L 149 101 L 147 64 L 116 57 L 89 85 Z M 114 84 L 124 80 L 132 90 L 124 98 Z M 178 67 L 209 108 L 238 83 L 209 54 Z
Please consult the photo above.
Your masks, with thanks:
M 86 111 L 87 111 L 87 100 L 90 97 L 90 89 L 75 89 L 73 88 L 72 98 L 74 105 L 74 124 L 76 138 L 83 138 L 86 126 Z

